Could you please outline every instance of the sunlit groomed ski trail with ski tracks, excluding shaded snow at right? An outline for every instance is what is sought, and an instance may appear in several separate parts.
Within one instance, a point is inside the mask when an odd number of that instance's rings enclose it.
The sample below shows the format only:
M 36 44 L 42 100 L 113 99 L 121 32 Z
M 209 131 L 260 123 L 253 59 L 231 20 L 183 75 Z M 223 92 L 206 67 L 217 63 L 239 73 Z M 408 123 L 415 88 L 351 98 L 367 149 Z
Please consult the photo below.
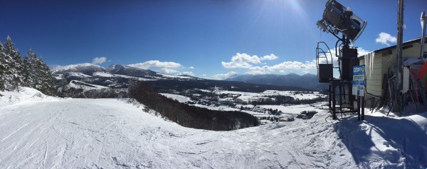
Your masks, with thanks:
M 0 168 L 357 168 L 328 116 L 205 131 L 116 99 L 23 102 L 0 108 Z

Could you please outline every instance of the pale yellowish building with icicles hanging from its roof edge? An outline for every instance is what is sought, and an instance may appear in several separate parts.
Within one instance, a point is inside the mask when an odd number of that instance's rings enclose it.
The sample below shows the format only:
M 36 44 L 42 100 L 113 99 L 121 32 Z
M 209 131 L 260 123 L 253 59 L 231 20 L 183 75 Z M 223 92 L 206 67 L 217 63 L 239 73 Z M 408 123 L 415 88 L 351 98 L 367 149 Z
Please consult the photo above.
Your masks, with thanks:
M 427 39 L 427 38 L 426 38 Z M 426 51 L 426 45 L 424 45 L 424 51 Z M 403 65 L 404 65 L 404 80 L 403 80 L 403 91 L 404 93 L 411 92 L 411 89 L 418 89 L 422 92 L 426 91 L 426 88 L 422 87 L 421 84 L 426 83 L 426 75 L 419 80 L 420 86 L 412 86 L 416 84 L 411 81 L 418 75 L 419 70 L 423 66 L 423 58 L 420 57 L 421 51 L 421 38 L 408 40 L 403 43 Z M 396 80 L 396 45 L 374 50 L 367 55 L 359 57 L 359 64 L 365 65 L 366 69 L 366 99 L 371 97 L 377 97 L 381 99 L 389 98 L 390 94 L 394 93 L 394 80 Z M 418 91 L 421 92 L 421 91 Z M 415 93 L 413 93 L 415 95 Z M 369 102 L 368 102 L 369 104 Z

